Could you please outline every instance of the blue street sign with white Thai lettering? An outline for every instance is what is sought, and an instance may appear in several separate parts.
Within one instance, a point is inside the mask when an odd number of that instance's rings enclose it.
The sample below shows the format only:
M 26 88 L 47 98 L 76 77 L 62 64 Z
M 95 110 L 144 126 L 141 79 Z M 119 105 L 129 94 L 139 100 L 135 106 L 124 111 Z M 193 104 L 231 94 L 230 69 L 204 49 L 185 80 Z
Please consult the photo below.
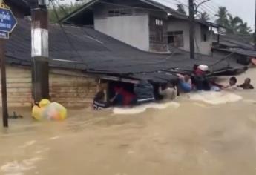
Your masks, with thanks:
M 9 9 L 0 8 L 0 31 L 11 33 L 16 27 L 17 20 Z

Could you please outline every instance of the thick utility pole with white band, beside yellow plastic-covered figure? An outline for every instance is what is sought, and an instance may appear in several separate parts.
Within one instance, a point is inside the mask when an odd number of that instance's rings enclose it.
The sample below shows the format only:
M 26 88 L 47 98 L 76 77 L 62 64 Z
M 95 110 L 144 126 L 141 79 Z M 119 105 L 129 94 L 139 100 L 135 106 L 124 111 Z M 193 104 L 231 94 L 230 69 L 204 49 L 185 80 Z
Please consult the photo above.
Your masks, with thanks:
M 38 0 L 39 6 L 31 10 L 31 56 L 33 99 L 49 99 L 49 49 L 48 49 L 48 13 L 46 0 Z

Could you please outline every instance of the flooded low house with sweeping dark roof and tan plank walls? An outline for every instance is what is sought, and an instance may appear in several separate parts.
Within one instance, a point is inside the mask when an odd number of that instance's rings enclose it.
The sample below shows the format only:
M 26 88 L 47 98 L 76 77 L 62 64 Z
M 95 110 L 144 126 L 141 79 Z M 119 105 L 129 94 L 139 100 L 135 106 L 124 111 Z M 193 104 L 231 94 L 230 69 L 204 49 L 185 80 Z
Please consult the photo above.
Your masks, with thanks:
M 62 27 L 49 24 L 49 52 L 50 96 L 67 107 L 90 105 L 99 79 L 106 83 L 111 93 L 116 84 L 132 89 L 140 79 L 147 79 L 154 85 L 175 81 L 175 73 L 190 73 L 194 64 L 209 65 L 212 73 L 243 69 L 233 62 L 217 62 L 207 56 L 192 60 L 184 51 L 172 54 L 145 52 L 93 27 L 70 24 Z M 29 18 L 19 18 L 6 46 L 10 107 L 31 105 L 33 59 L 30 55 L 31 22 Z

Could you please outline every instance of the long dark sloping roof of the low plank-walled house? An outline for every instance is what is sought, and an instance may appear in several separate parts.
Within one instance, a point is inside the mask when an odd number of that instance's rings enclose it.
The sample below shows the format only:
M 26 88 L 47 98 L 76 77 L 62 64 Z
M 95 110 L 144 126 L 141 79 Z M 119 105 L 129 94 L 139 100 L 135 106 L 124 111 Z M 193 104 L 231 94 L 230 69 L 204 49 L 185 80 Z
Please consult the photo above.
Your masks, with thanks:
M 99 33 L 90 27 L 65 25 L 64 28 L 65 32 L 57 24 L 50 24 L 49 26 L 51 67 L 82 70 L 90 73 L 133 74 L 175 68 L 189 71 L 192 70 L 194 64 L 213 65 L 217 61 L 206 59 L 206 56 L 197 56 L 197 60 L 191 60 L 188 53 L 147 53 Z M 7 62 L 31 65 L 30 35 L 30 22 L 24 19 L 19 20 L 19 24 L 7 42 Z M 224 61 L 211 67 L 211 70 L 223 70 L 226 67 L 229 67 L 229 62 Z

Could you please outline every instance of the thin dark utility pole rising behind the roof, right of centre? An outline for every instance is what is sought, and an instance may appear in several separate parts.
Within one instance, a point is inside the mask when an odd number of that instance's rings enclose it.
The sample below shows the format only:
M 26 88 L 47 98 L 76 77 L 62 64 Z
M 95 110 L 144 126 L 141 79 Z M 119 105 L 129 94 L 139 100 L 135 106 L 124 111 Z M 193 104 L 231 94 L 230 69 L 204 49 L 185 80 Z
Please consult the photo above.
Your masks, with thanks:
M 189 4 L 189 43 L 190 58 L 194 59 L 194 0 L 188 0 Z

